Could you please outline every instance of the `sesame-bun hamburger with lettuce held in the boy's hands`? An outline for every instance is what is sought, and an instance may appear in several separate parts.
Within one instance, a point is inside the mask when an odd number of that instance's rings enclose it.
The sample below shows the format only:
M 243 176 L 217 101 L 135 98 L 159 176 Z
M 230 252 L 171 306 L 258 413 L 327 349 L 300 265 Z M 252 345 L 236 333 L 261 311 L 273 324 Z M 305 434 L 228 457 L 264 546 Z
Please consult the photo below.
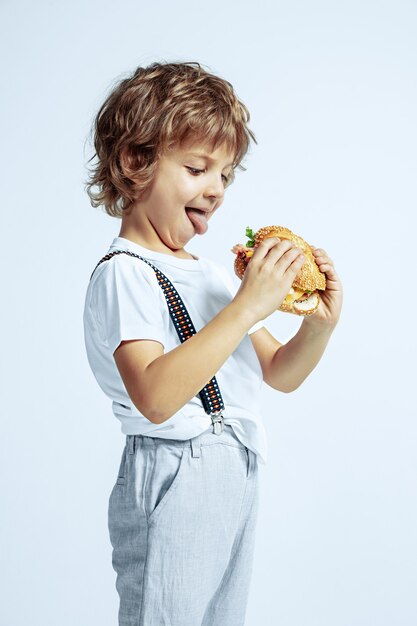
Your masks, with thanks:
M 238 243 L 231 250 L 231 252 L 236 254 L 234 271 L 241 280 L 255 252 L 255 248 L 267 237 L 289 239 L 295 243 L 297 248 L 303 251 L 305 261 L 295 277 L 290 291 L 277 310 L 295 315 L 313 315 L 319 306 L 319 291 L 326 289 L 326 275 L 319 270 L 311 246 L 284 226 L 265 226 L 260 228 L 255 234 L 248 226 L 246 228 L 246 237 L 248 237 L 246 245 Z

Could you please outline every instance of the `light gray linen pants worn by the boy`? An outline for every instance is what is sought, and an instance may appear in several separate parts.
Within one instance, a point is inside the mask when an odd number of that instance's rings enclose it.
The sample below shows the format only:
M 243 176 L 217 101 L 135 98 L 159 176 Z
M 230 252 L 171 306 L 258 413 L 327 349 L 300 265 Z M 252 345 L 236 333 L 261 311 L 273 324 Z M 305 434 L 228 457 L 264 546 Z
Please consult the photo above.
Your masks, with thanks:
M 243 626 L 258 462 L 232 427 L 126 435 L 108 509 L 119 626 Z

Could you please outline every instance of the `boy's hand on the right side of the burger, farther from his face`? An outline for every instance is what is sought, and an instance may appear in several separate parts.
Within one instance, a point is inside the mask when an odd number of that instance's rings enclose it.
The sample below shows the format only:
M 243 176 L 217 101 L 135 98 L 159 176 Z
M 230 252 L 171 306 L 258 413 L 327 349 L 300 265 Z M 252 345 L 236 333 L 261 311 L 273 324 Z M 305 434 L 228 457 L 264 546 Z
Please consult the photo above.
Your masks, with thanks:
M 342 283 L 334 269 L 333 261 L 322 248 L 314 248 L 314 260 L 321 272 L 326 274 L 326 289 L 319 291 L 320 302 L 318 309 L 313 315 L 308 315 L 304 321 L 309 326 L 334 327 L 339 321 L 343 303 Z

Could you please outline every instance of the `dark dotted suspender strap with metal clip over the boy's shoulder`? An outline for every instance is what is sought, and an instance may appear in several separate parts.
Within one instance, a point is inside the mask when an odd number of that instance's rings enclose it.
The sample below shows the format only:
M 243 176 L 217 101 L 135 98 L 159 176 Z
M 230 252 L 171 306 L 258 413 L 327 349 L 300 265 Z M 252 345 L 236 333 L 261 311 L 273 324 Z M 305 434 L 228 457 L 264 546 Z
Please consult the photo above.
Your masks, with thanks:
M 195 335 L 196 330 L 194 328 L 194 324 L 191 321 L 185 304 L 182 301 L 178 291 L 175 289 L 170 280 L 165 276 L 165 274 L 163 274 L 157 267 L 152 265 L 152 263 L 150 263 L 144 257 L 141 257 L 138 254 L 131 252 L 130 250 L 114 250 L 113 252 L 106 254 L 106 256 L 104 256 L 97 263 L 90 276 L 90 280 L 100 263 L 108 261 L 115 254 L 128 254 L 129 256 L 134 256 L 152 267 L 156 274 L 156 278 L 158 279 L 159 286 L 164 293 L 168 305 L 169 314 L 181 340 L 181 343 L 187 341 L 187 339 L 189 339 L 192 335 Z M 213 378 L 207 383 L 207 385 L 203 387 L 198 395 L 200 396 L 205 412 L 211 417 L 213 432 L 216 435 L 220 435 L 223 430 L 224 424 L 224 403 L 215 376 L 213 376 Z

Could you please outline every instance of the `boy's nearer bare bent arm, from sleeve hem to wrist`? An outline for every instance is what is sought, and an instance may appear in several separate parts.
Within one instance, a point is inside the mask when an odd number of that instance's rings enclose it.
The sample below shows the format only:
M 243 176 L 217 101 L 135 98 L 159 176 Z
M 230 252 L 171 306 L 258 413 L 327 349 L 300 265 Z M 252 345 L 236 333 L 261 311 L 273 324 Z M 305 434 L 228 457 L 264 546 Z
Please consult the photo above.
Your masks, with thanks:
M 167 353 L 156 341 L 122 341 L 114 359 L 132 402 L 162 424 L 215 376 L 257 321 L 235 299 Z

